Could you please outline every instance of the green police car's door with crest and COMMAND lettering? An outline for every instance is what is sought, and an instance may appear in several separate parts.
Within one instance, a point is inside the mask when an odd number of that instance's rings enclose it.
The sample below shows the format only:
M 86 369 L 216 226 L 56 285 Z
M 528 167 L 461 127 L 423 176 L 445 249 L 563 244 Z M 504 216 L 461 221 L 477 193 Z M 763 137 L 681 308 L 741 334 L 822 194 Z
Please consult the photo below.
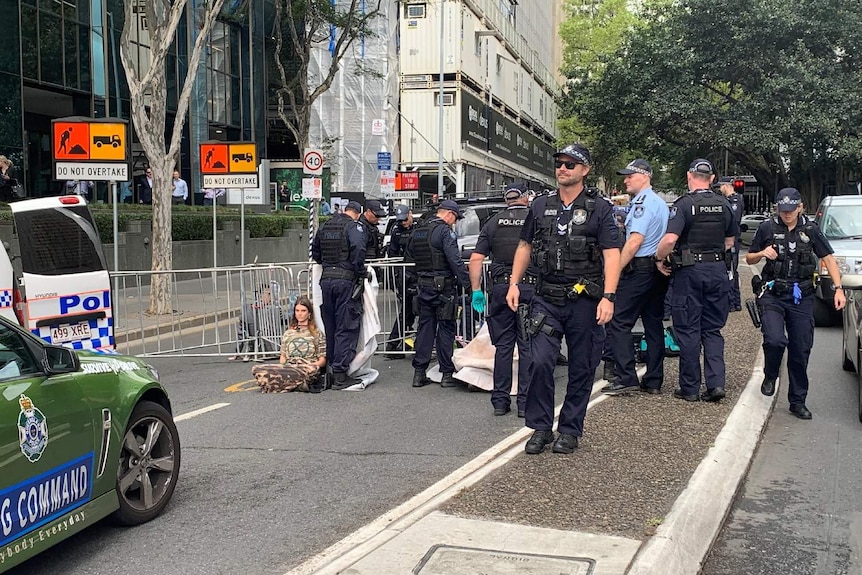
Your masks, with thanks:
M 43 528 L 92 497 L 95 434 L 79 374 L 48 376 L 0 321 L 0 572 L 50 544 Z

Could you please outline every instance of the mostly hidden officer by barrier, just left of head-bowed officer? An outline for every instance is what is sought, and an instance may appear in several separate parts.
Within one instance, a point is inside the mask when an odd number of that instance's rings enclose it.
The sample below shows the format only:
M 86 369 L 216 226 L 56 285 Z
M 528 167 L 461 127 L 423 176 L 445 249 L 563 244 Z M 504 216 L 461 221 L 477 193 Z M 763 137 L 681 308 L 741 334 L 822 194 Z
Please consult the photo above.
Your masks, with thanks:
M 398 222 L 392 228 L 389 238 L 389 249 L 387 255 L 390 258 L 404 258 L 405 263 L 413 261 L 407 256 L 407 243 L 413 233 L 413 212 L 408 206 L 399 204 L 395 206 L 395 220 Z M 399 359 L 401 356 L 392 352 L 404 351 L 404 331 L 413 327 L 416 314 L 413 313 L 413 298 L 416 297 L 416 270 L 412 266 L 404 266 L 395 269 L 395 293 L 398 294 L 398 317 L 392 324 L 392 331 L 386 343 L 386 351 L 389 359 Z

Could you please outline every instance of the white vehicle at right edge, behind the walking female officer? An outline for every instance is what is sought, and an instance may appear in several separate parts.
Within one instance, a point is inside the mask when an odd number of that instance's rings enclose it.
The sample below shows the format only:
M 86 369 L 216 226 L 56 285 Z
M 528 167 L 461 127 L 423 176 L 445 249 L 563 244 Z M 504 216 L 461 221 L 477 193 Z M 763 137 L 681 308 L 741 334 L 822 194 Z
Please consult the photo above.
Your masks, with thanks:
M 862 274 L 862 196 L 823 198 L 815 221 L 834 250 L 841 275 Z M 822 261 L 817 268 L 814 322 L 817 326 L 836 325 L 841 321 L 841 313 L 833 305 L 832 280 Z

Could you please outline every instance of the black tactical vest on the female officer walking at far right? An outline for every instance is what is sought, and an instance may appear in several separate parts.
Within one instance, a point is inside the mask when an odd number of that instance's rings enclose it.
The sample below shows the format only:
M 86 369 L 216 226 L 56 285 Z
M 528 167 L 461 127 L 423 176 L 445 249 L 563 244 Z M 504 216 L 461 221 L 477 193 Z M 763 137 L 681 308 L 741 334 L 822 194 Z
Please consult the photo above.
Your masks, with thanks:
M 814 224 L 806 216 L 799 216 L 796 224 L 797 241 L 796 249 L 791 253 L 790 232 L 787 226 L 778 216 L 772 216 L 769 220 L 769 231 L 771 238 L 767 238 L 770 245 L 776 246 L 778 258 L 767 260 L 763 266 L 761 277 L 765 281 L 780 280 L 809 280 L 817 271 L 817 254 L 814 253 L 814 235 L 816 230 Z

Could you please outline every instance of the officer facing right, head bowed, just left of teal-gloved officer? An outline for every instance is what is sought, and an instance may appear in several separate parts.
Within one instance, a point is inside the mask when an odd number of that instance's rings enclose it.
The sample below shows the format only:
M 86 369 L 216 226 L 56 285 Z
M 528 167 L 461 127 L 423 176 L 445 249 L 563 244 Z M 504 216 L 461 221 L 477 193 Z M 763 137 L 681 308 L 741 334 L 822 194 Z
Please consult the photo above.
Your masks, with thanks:
M 437 362 L 443 374 L 440 385 L 460 385 L 453 375 L 455 364 L 452 363 L 455 318 L 458 315 L 457 284 L 468 289 L 470 275 L 461 261 L 452 226 L 462 217 L 455 200 L 443 200 L 437 215 L 413 230 L 410 236 L 407 250 L 416 262 L 419 284 L 416 296 L 419 328 L 413 356 L 413 387 L 431 383 L 426 370 L 431 363 L 431 350 L 435 345 Z

